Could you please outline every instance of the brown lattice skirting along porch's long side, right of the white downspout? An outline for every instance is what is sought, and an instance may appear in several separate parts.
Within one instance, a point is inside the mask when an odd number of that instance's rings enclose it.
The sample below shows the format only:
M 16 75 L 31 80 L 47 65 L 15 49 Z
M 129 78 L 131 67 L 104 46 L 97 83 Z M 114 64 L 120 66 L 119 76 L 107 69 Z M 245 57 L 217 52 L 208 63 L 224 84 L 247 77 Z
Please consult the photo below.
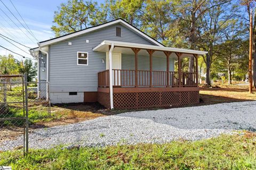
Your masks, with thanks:
M 199 103 L 199 91 L 119 92 L 113 99 L 118 109 L 181 106 Z

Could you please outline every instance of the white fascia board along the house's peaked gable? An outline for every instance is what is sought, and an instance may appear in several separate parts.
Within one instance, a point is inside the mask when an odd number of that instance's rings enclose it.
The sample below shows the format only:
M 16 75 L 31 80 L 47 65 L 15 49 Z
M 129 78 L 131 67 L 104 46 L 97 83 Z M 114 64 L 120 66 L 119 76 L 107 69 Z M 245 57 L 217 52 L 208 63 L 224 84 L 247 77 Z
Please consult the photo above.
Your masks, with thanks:
M 42 43 L 38 43 L 38 46 L 44 47 L 44 46 L 47 46 L 47 45 L 50 45 L 50 44 L 53 44 L 53 43 L 57 43 L 57 42 L 59 42 L 59 41 L 63 41 L 63 40 L 69 39 L 69 38 L 73 38 L 73 37 L 82 35 L 82 34 L 87 33 L 87 32 L 91 32 L 91 31 L 94 31 L 94 30 L 97 30 L 97 29 L 100 29 L 100 28 L 103 28 L 103 27 L 108 27 L 109 25 L 113 25 L 113 24 L 116 24 L 116 23 L 122 23 L 123 25 L 126 25 L 126 26 L 129 27 L 130 29 L 132 29 L 132 30 L 138 32 L 141 36 L 145 37 L 146 39 L 148 39 L 148 40 L 151 41 L 152 43 L 154 43 L 154 44 L 156 44 L 156 45 L 158 45 L 158 46 L 164 47 L 162 44 L 158 43 L 158 42 L 157 42 L 156 40 L 154 40 L 153 38 L 147 36 L 145 33 L 142 33 L 141 31 L 139 31 L 138 29 L 134 28 L 132 25 L 130 25 L 130 24 L 124 22 L 124 21 L 121 20 L 121 19 L 118 19 L 118 20 L 112 21 L 112 22 L 108 22 L 108 23 L 105 23 L 105 24 L 102 24 L 102 25 L 98 25 L 98 26 L 95 26 L 95 27 L 92 27 L 92 28 L 88 28 L 88 29 L 85 29 L 85 30 L 82 30 L 82 31 L 70 33 L 69 35 L 62 36 L 62 37 L 59 37 L 59 38 L 55 38 L 55 39 L 52 39 L 52 40 L 49 40 L 49 41 L 45 41 L 45 42 L 42 42 Z

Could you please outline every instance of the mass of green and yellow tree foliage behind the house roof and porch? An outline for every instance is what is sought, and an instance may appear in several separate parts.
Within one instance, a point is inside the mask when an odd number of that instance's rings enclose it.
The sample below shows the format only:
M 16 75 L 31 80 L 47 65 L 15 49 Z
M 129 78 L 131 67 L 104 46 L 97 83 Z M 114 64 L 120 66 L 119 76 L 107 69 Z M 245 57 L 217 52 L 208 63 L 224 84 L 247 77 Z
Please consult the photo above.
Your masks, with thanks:
M 87 0 L 69 0 L 55 12 L 52 30 L 59 36 L 122 18 L 165 46 L 207 51 L 198 66 L 202 75 L 207 73 L 208 83 L 210 73 L 212 78 L 227 76 L 230 67 L 234 78 L 244 79 L 248 48 L 244 42 L 248 30 L 241 4 L 250 8 L 254 1 L 106 0 L 98 5 Z M 238 53 L 241 57 L 237 59 Z M 236 59 L 227 64 L 225 58 L 230 55 Z M 186 65 L 188 61 L 185 62 L 184 70 L 191 70 Z

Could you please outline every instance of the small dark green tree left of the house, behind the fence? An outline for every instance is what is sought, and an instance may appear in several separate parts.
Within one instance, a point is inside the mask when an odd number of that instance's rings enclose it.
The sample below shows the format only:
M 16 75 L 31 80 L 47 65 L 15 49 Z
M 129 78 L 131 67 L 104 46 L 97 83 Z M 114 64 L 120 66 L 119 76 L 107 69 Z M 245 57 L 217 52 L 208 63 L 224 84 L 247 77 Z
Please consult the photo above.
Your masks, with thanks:
M 33 65 L 31 60 L 26 59 L 24 62 L 19 62 L 19 73 L 27 74 L 27 81 L 32 81 L 37 75 L 37 63 Z

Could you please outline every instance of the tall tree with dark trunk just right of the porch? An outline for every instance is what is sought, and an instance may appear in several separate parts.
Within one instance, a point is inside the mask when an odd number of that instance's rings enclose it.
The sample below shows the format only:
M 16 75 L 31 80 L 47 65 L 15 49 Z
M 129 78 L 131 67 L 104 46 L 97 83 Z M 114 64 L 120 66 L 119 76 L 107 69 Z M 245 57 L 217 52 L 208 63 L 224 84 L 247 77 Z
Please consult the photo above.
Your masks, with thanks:
M 211 84 L 210 71 L 213 61 L 216 59 L 215 53 L 218 52 L 215 45 L 225 41 L 225 33 L 229 32 L 234 24 L 238 22 L 238 6 L 231 2 L 220 3 L 217 0 L 209 0 L 209 10 L 205 11 L 200 17 L 200 32 L 198 47 L 207 51 L 203 56 L 206 64 L 206 84 Z

